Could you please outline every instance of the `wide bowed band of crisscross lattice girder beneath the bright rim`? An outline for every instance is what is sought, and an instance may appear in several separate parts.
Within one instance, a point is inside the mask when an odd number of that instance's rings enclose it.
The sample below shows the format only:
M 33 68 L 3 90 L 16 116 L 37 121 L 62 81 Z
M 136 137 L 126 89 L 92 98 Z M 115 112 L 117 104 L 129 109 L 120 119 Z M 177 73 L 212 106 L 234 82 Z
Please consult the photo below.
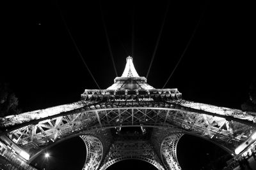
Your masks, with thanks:
M 230 149 L 244 141 L 253 129 L 248 125 L 227 121 L 225 118 L 173 108 L 109 108 L 44 120 L 36 125 L 28 125 L 12 131 L 8 133 L 8 137 L 24 148 L 42 147 L 86 129 L 141 124 L 145 127 L 175 126 L 211 138 Z M 227 124 L 230 124 L 230 127 L 227 128 Z

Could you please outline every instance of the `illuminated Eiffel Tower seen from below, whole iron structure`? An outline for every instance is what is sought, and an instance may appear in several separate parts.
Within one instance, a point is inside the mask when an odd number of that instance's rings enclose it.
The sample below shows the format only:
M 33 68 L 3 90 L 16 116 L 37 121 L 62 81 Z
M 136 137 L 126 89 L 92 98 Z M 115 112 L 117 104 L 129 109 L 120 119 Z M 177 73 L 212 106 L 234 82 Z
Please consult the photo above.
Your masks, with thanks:
M 0 155 L 17 169 L 36 169 L 29 163 L 40 153 L 75 136 L 86 146 L 84 170 L 105 170 L 126 159 L 179 170 L 177 143 L 184 134 L 211 141 L 234 158 L 246 153 L 244 143 L 256 145 L 255 113 L 186 101 L 178 89 L 155 89 L 136 72 L 132 57 L 108 89 L 86 89 L 75 103 L 4 117 L 0 127 Z

